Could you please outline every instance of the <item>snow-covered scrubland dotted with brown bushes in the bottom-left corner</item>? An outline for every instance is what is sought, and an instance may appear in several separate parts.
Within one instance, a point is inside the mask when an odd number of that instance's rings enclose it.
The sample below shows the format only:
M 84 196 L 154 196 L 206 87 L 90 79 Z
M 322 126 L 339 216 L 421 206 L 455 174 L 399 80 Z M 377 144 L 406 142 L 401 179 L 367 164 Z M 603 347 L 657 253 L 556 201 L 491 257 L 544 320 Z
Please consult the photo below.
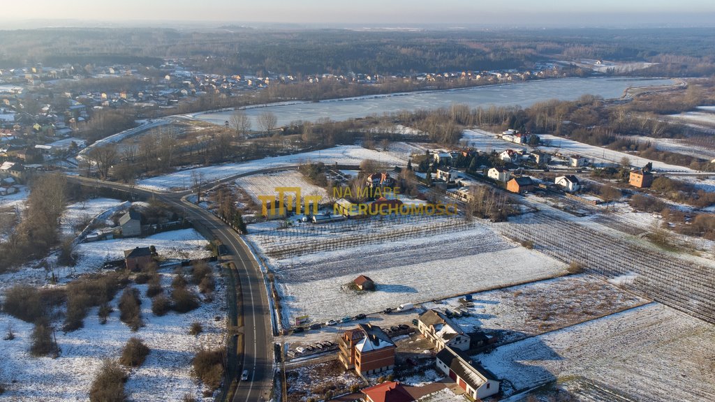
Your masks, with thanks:
M 165 289 L 170 289 L 173 276 L 162 271 Z M 225 285 L 217 271 L 215 278 L 214 301 L 202 303 L 186 314 L 169 312 L 162 317 L 152 313 L 147 285 L 135 285 L 142 295 L 142 318 L 146 324 L 136 333 L 119 320 L 119 292 L 111 303 L 114 312 L 106 324 L 99 323 L 97 308 L 92 308 L 84 319 L 84 328 L 70 333 L 56 331 L 61 348 L 56 359 L 32 357 L 28 350 L 33 325 L 0 314 L 0 328 L 12 325 L 16 336 L 14 340 L 0 341 L 0 383 L 6 387 L 0 401 L 89 401 L 89 387 L 102 361 L 119 358 L 132 336 L 141 338 L 151 352 L 142 367 L 130 371 L 126 383 L 129 401 L 181 401 L 187 394 L 197 401 L 211 401 L 212 398 L 202 398 L 202 386 L 191 376 L 191 361 L 200 348 L 221 347 L 225 339 L 225 320 L 214 320 L 225 308 Z M 189 289 L 197 292 L 195 286 Z M 201 323 L 204 332 L 189 335 L 193 322 Z

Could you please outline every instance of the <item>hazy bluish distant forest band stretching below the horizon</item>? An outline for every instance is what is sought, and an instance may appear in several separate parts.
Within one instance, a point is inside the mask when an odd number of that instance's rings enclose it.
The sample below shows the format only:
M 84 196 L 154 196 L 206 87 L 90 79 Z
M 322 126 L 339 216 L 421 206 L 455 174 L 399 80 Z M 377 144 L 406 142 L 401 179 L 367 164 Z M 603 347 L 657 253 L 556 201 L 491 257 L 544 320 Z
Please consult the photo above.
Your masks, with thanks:
M 529 69 L 558 59 L 660 64 L 633 74 L 715 74 L 713 29 L 548 29 L 498 31 L 267 31 L 31 29 L 0 31 L 0 68 L 41 62 L 158 67 L 164 58 L 216 74 L 414 74 Z

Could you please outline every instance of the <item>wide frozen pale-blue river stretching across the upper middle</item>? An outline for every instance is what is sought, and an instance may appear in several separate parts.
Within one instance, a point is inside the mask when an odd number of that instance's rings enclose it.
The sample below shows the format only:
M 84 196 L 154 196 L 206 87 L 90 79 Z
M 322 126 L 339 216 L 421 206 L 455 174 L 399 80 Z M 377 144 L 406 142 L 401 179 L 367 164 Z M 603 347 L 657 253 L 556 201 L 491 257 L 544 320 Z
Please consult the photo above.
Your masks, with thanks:
M 278 125 L 284 126 L 295 120 L 315 120 L 329 117 L 332 120 L 346 120 L 400 110 L 436 109 L 450 104 L 467 104 L 470 107 L 489 105 L 528 107 L 547 99 L 573 100 L 583 94 L 599 95 L 606 99 L 621 97 L 629 86 L 649 87 L 672 84 L 671 79 L 644 78 L 563 78 L 541 81 L 518 82 L 489 85 L 446 91 L 412 92 L 406 94 L 375 95 L 370 97 L 330 99 L 322 102 L 297 102 L 293 104 L 272 104 L 265 107 L 246 109 L 253 119 L 253 129 L 257 129 L 255 117 L 270 111 L 278 118 Z M 233 112 L 199 113 L 197 119 L 214 124 L 224 124 Z

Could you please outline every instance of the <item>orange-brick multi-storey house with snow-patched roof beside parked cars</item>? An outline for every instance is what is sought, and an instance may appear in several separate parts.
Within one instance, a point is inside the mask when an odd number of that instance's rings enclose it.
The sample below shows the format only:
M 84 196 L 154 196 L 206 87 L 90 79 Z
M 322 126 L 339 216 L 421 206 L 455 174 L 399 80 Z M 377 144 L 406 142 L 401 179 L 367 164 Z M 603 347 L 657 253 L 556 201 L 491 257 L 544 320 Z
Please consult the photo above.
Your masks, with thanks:
M 395 343 L 377 325 L 358 324 L 346 330 L 337 341 L 338 358 L 345 368 L 355 368 L 360 374 L 374 374 L 395 367 Z

